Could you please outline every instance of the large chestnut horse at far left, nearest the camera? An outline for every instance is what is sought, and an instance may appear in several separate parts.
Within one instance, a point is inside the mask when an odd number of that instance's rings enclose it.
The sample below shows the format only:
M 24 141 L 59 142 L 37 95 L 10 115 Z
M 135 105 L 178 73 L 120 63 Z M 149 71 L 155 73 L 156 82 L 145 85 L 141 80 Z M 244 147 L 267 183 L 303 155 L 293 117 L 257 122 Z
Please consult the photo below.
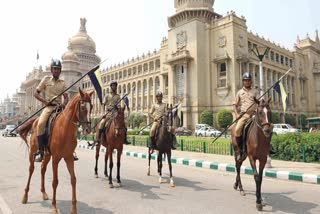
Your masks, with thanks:
M 68 171 L 71 176 L 72 185 L 72 208 L 71 213 L 77 213 L 77 198 L 76 198 L 76 176 L 74 173 L 74 160 L 73 152 L 77 146 L 76 133 L 80 125 L 82 125 L 84 134 L 90 132 L 90 120 L 89 120 L 89 108 L 91 104 L 91 93 L 82 92 L 79 89 L 79 94 L 75 95 L 68 103 L 66 108 L 57 116 L 55 124 L 51 132 L 51 140 L 49 144 L 50 153 L 45 153 L 44 160 L 41 165 L 41 192 L 43 200 L 48 200 L 48 195 L 45 191 L 45 173 L 47 164 L 49 163 L 52 156 L 52 170 L 53 170 L 53 196 L 52 196 L 52 213 L 58 213 L 56 207 L 56 189 L 58 186 L 58 164 L 62 158 L 64 158 Z M 88 104 L 88 105 L 87 105 Z M 30 187 L 31 177 L 34 171 L 34 153 L 38 149 L 36 129 L 38 125 L 38 118 L 29 120 L 27 123 L 19 128 L 19 134 L 21 138 L 26 142 L 27 134 L 31 130 L 30 137 L 30 151 L 29 151 L 29 177 L 23 195 L 22 203 L 25 204 L 28 201 L 28 192 Z M 29 146 L 29 145 L 28 145 Z

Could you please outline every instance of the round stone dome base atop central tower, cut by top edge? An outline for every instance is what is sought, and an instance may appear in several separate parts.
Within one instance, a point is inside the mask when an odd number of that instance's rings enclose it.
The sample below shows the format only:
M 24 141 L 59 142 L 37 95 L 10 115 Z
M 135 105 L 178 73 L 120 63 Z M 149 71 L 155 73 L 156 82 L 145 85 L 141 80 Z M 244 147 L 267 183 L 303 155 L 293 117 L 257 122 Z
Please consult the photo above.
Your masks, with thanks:
M 213 12 L 214 0 L 175 0 L 176 12 L 184 10 L 209 10 Z

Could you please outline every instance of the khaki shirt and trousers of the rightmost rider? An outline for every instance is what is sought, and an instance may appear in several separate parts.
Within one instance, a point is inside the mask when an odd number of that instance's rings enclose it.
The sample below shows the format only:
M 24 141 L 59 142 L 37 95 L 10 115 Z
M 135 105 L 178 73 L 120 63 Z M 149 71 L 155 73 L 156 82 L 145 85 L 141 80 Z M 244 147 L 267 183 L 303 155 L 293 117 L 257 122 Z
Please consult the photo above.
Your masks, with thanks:
M 241 130 L 244 126 L 244 124 L 247 122 L 247 120 L 250 118 L 252 112 L 256 109 L 256 102 L 254 101 L 254 97 L 256 99 L 259 98 L 259 92 L 255 88 L 251 88 L 247 90 L 245 87 L 240 89 L 236 95 L 236 99 L 234 101 L 234 105 L 239 106 L 241 105 L 241 113 L 246 112 L 238 121 L 236 124 L 236 137 L 241 136 Z M 252 105 L 255 104 L 255 105 Z M 248 109 L 250 106 L 252 107 Z

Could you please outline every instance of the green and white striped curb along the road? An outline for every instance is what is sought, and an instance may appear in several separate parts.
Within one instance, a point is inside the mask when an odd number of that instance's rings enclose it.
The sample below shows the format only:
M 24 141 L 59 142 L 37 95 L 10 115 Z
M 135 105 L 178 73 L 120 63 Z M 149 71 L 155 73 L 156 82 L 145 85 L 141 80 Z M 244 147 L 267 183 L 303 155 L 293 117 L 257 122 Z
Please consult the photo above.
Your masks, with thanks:
M 77 147 L 81 149 L 95 150 L 95 147 L 91 147 L 83 144 L 78 144 Z M 106 149 L 100 148 L 100 152 L 106 152 Z M 137 158 L 144 158 L 144 159 L 148 158 L 146 153 L 141 153 L 141 152 L 123 151 L 122 154 L 125 156 L 131 156 L 131 157 L 137 157 Z M 156 154 L 151 155 L 152 160 L 155 160 L 156 157 L 157 157 Z M 163 161 L 165 161 L 165 159 L 163 159 Z M 194 159 L 187 159 L 187 158 L 177 158 L 173 156 L 171 157 L 171 162 L 174 164 L 180 164 L 185 166 L 213 169 L 213 170 L 219 170 L 224 172 L 236 172 L 235 166 L 233 164 L 227 164 L 227 163 L 218 163 L 218 162 L 194 160 Z M 253 170 L 251 167 L 241 166 L 241 173 L 247 174 L 247 175 L 253 175 Z M 276 170 L 265 169 L 263 172 L 263 176 L 280 179 L 280 180 L 299 181 L 299 182 L 310 183 L 310 184 L 320 184 L 320 175 L 315 175 L 315 174 L 304 174 L 300 172 L 276 171 Z

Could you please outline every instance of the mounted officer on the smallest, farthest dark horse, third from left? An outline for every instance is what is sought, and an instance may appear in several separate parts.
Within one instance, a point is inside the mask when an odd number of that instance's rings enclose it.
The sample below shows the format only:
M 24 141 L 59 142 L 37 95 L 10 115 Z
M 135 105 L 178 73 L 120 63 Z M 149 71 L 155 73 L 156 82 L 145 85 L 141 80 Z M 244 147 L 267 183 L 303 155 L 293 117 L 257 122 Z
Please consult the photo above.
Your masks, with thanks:
M 159 124 L 159 120 L 167 111 L 167 104 L 162 102 L 163 94 L 161 91 L 158 91 L 156 93 L 156 98 L 157 98 L 157 102 L 152 105 L 151 110 L 149 112 L 149 116 L 153 119 L 153 123 L 150 129 L 150 136 L 149 136 L 149 142 L 150 142 L 149 146 L 152 148 L 152 150 L 156 148 L 155 132 Z M 176 149 L 176 147 L 174 146 L 174 144 L 176 144 L 176 139 L 175 139 L 175 135 L 174 134 L 172 135 L 174 139 L 173 139 L 173 144 L 171 146 L 171 149 L 174 150 Z

